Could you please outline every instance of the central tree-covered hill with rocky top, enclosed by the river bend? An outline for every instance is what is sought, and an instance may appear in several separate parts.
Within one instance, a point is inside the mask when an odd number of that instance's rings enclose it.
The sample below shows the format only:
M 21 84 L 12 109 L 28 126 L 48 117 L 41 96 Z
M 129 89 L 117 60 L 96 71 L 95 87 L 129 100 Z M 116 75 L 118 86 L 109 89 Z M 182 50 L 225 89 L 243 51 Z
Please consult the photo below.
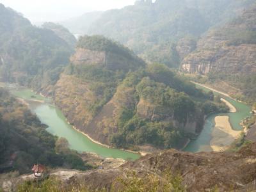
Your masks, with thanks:
M 80 38 L 54 100 L 77 129 L 122 148 L 182 147 L 200 132 L 204 115 L 227 110 L 164 65 L 147 67 L 102 36 Z

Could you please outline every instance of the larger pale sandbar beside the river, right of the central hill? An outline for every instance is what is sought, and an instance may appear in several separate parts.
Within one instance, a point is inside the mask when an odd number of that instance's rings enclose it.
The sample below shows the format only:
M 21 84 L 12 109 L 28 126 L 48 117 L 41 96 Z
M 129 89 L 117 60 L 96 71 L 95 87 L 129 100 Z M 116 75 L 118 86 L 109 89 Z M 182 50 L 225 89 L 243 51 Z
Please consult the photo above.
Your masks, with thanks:
M 234 131 L 230 125 L 228 116 L 216 116 L 215 127 L 212 131 L 212 140 L 210 145 L 213 151 L 226 150 L 239 138 L 242 131 Z

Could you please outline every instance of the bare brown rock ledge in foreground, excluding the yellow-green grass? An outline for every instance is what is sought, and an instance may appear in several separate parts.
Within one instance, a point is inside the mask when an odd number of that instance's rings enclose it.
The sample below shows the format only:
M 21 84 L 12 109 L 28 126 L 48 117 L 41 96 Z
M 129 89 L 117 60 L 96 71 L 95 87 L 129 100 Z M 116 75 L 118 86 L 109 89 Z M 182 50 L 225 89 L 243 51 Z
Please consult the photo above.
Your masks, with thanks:
M 125 163 L 117 168 L 90 170 L 52 170 L 63 182 L 86 183 L 91 189 L 111 189 L 117 178 L 127 179 L 132 171 L 138 177 L 154 173 L 162 178 L 163 173 L 182 176 L 182 185 L 187 191 L 253 191 L 256 178 L 256 143 L 248 144 L 238 152 L 200 152 L 196 154 L 166 150 L 148 154 L 137 161 Z M 13 189 L 18 183 L 31 179 L 32 175 L 22 175 L 13 179 L 1 179 L 2 188 Z M 8 188 L 9 186 L 9 188 Z

